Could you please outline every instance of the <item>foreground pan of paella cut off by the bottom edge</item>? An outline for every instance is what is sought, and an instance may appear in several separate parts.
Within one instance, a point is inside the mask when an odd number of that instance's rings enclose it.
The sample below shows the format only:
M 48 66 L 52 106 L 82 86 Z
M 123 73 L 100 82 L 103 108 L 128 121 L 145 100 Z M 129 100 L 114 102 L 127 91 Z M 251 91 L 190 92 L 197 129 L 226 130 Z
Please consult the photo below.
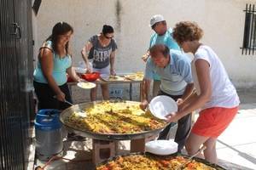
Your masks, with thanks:
M 188 156 L 172 154 L 170 156 L 156 156 L 149 153 L 132 153 L 126 156 L 116 156 L 103 161 L 96 170 L 177 170 Z M 224 170 L 216 164 L 200 158 L 193 158 L 186 163 L 183 170 Z

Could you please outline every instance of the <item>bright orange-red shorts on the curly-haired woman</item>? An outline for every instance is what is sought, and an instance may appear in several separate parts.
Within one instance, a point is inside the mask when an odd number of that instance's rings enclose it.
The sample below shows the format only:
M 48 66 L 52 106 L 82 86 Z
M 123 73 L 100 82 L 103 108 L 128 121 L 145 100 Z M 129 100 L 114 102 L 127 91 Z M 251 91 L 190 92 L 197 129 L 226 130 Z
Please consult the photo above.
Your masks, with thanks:
M 218 138 L 236 116 L 238 106 L 234 108 L 212 107 L 200 111 L 200 116 L 191 132 L 200 136 Z

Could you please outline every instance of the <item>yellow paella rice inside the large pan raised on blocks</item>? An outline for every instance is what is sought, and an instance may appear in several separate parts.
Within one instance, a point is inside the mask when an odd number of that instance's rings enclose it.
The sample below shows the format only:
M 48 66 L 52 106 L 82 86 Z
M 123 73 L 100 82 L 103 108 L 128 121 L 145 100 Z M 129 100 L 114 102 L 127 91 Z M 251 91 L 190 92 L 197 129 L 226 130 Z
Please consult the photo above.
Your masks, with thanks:
M 93 133 L 141 133 L 166 124 L 141 110 L 139 104 L 125 101 L 96 103 L 83 112 L 74 111 L 64 122 L 69 127 Z

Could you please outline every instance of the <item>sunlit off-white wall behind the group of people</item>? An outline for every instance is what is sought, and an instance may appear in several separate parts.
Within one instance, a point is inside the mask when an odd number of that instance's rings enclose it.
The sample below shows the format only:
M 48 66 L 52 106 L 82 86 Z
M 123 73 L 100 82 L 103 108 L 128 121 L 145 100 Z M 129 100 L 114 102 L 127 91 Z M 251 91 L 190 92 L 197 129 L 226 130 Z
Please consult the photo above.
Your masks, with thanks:
M 255 0 L 44 0 L 34 19 L 35 54 L 58 21 L 74 28 L 71 41 L 74 65 L 88 38 L 114 27 L 118 42 L 117 71 L 143 71 L 141 56 L 148 48 L 153 31 L 148 22 L 153 14 L 163 14 L 168 26 L 193 20 L 205 31 L 203 43 L 210 45 L 224 62 L 237 88 L 256 86 L 256 54 L 241 55 L 246 3 Z M 118 14 L 119 13 L 119 14 Z M 35 26 L 36 25 L 36 26 Z

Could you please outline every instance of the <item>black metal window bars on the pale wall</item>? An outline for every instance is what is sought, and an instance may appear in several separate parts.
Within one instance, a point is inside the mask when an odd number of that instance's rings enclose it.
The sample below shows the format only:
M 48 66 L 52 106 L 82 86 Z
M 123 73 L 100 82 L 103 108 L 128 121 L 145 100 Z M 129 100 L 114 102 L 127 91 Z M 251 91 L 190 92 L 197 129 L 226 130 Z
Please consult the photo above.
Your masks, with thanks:
M 256 8 L 247 4 L 241 54 L 254 54 L 256 49 Z M 256 51 L 255 51 L 256 52 Z

